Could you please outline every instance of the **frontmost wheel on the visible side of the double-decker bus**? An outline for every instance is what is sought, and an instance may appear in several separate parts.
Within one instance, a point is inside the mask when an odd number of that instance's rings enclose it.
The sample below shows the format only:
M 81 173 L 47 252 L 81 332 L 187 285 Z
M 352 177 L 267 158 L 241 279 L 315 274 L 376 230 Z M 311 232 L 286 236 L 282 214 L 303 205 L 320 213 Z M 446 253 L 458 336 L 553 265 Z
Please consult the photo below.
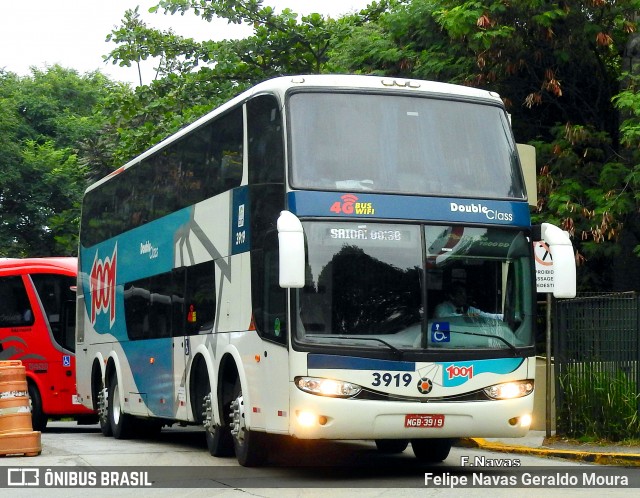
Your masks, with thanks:
M 231 435 L 238 463 L 243 467 L 258 467 L 268 457 L 265 435 L 247 429 L 240 379 L 236 379 L 236 393 L 231 402 Z

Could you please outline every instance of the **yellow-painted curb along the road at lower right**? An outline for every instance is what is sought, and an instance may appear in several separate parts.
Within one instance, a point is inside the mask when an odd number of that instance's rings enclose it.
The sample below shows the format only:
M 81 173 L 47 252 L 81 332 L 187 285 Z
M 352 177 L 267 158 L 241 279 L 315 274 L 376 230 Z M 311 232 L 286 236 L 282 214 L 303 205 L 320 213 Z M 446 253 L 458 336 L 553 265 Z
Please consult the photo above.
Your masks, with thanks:
M 531 448 L 528 446 L 517 446 L 504 443 L 489 442 L 482 438 L 463 438 L 458 441 L 457 446 L 461 446 L 463 448 L 479 448 L 501 453 L 519 453 L 523 455 L 564 458 L 567 460 L 596 463 L 599 465 L 622 465 L 640 467 L 640 454 L 637 453 L 575 451 L 544 447 Z

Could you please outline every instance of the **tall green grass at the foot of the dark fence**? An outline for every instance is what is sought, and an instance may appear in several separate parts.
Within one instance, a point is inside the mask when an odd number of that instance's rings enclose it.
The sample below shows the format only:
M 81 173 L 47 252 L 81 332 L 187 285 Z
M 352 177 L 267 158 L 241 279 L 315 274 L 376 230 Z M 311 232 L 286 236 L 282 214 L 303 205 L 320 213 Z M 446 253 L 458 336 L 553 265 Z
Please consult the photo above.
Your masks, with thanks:
M 612 441 L 637 438 L 640 394 L 624 372 L 587 363 L 568 368 L 559 381 L 563 402 L 557 413 L 558 433 Z

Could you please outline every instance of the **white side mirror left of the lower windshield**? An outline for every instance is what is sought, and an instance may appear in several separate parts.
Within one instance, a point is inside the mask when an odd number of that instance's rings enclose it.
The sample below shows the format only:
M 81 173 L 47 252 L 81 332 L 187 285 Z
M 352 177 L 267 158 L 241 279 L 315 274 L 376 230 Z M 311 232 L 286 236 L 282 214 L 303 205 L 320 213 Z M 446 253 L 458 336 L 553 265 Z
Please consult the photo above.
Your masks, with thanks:
M 300 220 L 289 211 L 278 218 L 278 248 L 280 253 L 280 287 L 304 287 L 304 232 Z

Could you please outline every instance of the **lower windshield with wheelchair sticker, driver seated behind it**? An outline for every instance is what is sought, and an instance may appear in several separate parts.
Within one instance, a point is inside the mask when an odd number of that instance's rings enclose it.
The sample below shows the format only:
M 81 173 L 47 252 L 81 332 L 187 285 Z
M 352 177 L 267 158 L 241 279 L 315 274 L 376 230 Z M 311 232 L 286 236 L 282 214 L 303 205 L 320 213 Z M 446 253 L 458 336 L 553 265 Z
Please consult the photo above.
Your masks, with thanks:
M 308 265 L 306 285 L 296 291 L 299 342 L 392 350 L 533 345 L 533 272 L 522 232 L 303 226 Z

